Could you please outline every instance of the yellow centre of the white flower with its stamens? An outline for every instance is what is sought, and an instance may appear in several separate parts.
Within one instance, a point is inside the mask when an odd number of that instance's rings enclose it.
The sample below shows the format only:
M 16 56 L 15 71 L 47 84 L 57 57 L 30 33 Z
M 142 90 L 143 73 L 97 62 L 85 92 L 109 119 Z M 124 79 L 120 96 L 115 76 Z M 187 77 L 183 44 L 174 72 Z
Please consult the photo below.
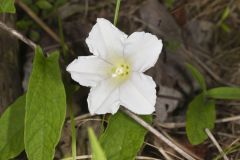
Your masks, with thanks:
M 112 77 L 126 79 L 131 73 L 130 65 L 127 63 L 120 63 L 112 68 Z

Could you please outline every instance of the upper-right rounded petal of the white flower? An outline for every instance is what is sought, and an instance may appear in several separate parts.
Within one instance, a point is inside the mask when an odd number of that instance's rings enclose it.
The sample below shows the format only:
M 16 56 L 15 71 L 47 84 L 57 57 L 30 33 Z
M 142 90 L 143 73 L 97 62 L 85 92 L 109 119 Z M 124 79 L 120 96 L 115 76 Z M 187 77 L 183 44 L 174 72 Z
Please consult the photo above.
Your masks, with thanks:
M 153 67 L 162 50 L 162 40 L 145 32 L 134 32 L 124 43 L 124 57 L 135 71 L 144 72 Z

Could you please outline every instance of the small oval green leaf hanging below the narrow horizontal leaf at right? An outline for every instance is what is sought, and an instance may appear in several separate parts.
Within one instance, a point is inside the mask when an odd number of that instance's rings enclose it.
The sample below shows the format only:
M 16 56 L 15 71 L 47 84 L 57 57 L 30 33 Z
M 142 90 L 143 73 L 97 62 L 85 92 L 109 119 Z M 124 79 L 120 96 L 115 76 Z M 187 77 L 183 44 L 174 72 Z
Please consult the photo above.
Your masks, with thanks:
M 215 101 L 206 100 L 204 94 L 196 96 L 187 110 L 186 131 L 190 143 L 196 145 L 207 139 L 205 129 L 213 129 L 215 119 Z

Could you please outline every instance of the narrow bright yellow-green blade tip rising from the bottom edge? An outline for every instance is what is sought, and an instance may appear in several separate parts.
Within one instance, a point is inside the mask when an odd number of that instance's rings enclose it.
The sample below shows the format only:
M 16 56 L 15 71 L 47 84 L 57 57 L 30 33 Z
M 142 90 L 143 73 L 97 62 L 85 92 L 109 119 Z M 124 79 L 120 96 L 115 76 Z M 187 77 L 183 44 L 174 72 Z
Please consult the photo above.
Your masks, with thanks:
M 92 148 L 92 160 L 107 160 L 92 128 L 88 128 L 88 135 Z

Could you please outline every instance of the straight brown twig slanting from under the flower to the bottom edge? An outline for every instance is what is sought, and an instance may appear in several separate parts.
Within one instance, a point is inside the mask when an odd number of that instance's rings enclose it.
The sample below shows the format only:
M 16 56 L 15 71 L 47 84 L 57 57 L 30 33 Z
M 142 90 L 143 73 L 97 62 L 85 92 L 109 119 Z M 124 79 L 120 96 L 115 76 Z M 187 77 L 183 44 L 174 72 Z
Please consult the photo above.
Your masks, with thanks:
M 138 122 L 140 125 L 142 125 L 144 128 L 146 128 L 148 131 L 150 131 L 152 134 L 154 134 L 157 138 L 168 144 L 170 147 L 172 147 L 175 151 L 177 151 L 179 154 L 181 154 L 183 157 L 185 157 L 188 160 L 195 160 L 191 155 L 186 153 L 182 148 L 174 144 L 172 141 L 170 141 L 168 138 L 166 138 L 163 134 L 161 134 L 158 130 L 153 128 L 151 125 L 149 125 L 147 122 L 145 122 L 142 118 L 135 115 L 131 111 L 122 108 L 121 109 L 125 114 L 127 114 L 129 117 L 134 119 L 136 122 Z

